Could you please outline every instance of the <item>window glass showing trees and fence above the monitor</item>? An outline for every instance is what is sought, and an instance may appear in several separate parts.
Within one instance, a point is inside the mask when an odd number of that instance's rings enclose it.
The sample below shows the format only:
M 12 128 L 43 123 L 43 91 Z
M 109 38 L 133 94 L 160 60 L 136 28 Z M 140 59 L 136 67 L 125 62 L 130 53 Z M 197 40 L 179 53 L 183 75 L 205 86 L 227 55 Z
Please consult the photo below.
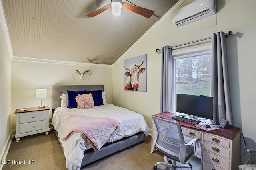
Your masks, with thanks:
M 210 96 L 211 54 L 176 59 L 176 93 Z

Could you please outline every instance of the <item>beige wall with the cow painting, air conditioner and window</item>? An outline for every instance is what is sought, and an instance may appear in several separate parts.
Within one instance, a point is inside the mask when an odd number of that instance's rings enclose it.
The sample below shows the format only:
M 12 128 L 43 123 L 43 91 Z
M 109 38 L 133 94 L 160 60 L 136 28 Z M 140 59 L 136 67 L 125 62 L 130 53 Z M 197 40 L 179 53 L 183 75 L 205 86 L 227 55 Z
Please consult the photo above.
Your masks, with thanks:
M 192 1 L 186 1 L 188 4 Z M 217 0 L 217 25 L 199 30 L 199 21 L 176 28 L 168 17 L 112 68 L 113 104 L 144 115 L 151 128 L 151 115 L 160 112 L 161 53 L 164 45 L 178 45 L 233 31 L 227 40 L 228 74 L 234 125 L 241 127 L 248 148 L 256 148 L 256 1 Z M 147 92 L 123 90 L 123 60 L 147 54 Z M 254 117 L 253 119 L 251 119 Z

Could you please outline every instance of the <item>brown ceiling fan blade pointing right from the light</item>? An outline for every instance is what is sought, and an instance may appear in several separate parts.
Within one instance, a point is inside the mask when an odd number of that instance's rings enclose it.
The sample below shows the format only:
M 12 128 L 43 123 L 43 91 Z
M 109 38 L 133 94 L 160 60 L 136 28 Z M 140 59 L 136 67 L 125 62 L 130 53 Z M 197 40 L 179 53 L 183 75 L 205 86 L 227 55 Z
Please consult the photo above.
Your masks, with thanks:
M 146 18 L 150 18 L 153 14 L 154 11 L 152 10 L 148 10 L 146 8 L 142 8 L 133 4 L 128 4 L 126 2 L 123 2 L 123 6 L 124 8 L 126 8 L 127 10 L 130 10 L 132 12 L 135 12 L 137 14 L 140 14 L 141 16 L 144 16 Z

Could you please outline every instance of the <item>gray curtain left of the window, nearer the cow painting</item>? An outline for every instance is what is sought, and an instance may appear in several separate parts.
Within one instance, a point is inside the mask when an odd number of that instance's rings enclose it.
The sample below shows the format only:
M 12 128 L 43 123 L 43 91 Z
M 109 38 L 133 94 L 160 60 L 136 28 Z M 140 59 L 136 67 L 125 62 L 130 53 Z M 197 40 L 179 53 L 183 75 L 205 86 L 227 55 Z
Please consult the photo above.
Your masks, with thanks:
M 161 72 L 161 104 L 160 111 L 173 112 L 173 77 L 174 60 L 170 46 L 162 47 L 162 72 Z

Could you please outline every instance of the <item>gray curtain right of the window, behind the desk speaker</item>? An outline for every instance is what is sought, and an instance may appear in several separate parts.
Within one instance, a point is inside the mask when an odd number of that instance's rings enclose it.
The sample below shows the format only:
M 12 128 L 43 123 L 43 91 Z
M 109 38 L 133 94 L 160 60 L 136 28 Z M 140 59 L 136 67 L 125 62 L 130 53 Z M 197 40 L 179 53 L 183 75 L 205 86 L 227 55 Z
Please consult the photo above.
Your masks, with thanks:
M 222 119 L 226 119 L 233 125 L 224 32 L 212 36 L 211 96 L 214 97 L 213 120 L 220 123 Z

